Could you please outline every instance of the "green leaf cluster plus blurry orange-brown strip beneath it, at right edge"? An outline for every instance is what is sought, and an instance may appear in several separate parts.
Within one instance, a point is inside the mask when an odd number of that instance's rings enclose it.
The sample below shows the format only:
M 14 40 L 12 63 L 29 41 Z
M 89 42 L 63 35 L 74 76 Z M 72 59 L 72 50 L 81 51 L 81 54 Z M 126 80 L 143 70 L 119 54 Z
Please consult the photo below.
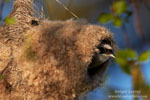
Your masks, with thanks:
M 137 53 L 132 49 L 124 49 L 116 52 L 116 62 L 125 73 L 132 76 L 133 89 L 140 91 L 139 95 L 141 96 L 148 96 L 150 93 L 150 86 L 145 83 L 140 70 L 140 63 L 148 60 L 149 57 L 150 51 L 148 50 L 140 53 L 139 55 L 137 55 Z M 136 96 L 137 94 L 133 95 Z

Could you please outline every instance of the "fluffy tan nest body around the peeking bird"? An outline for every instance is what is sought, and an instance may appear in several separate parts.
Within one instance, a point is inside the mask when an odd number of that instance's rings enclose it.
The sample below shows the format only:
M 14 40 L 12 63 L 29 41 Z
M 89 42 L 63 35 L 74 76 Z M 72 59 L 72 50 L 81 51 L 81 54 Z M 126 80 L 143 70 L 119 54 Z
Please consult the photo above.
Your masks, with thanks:
M 102 42 L 115 48 L 106 28 L 74 20 L 32 24 L 22 46 L 13 47 L 0 100 L 73 100 L 101 85 L 108 62 L 95 70 L 89 65 Z

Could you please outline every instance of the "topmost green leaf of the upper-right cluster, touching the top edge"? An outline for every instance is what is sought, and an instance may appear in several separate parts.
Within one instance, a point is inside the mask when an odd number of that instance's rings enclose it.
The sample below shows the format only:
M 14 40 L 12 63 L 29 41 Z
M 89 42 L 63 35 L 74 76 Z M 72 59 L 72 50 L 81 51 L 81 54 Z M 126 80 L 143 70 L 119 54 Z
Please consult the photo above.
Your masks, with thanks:
M 127 4 L 125 0 L 119 0 L 112 4 L 112 8 L 117 15 L 120 15 L 127 11 Z

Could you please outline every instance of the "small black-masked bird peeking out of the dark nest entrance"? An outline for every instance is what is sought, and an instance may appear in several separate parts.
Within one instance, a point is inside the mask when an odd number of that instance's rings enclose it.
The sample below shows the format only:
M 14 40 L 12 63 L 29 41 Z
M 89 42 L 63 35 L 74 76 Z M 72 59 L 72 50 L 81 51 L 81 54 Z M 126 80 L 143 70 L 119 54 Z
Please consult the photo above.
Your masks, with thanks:
M 100 69 L 106 67 L 106 64 L 115 58 L 113 54 L 113 47 L 109 42 L 102 42 L 98 45 L 92 61 L 88 67 L 88 74 L 94 76 Z

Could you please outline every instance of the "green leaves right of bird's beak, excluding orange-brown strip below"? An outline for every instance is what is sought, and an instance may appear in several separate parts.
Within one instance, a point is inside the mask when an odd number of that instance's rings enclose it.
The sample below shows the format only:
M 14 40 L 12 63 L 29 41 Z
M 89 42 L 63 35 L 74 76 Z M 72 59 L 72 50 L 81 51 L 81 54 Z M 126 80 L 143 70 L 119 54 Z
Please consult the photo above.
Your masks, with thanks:
M 148 60 L 149 51 L 137 55 L 132 49 L 124 49 L 116 52 L 116 62 L 121 66 L 124 72 L 131 74 L 132 67 L 138 66 L 141 62 Z

